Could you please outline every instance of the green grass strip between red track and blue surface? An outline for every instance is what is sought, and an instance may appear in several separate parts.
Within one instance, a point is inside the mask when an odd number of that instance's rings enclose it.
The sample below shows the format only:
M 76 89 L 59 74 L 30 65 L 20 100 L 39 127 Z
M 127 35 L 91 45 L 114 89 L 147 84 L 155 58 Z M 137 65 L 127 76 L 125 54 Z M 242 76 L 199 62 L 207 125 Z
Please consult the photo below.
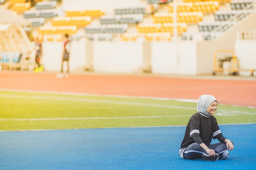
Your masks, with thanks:
M 0 91 L 0 131 L 186 125 L 195 102 Z M 255 123 L 256 108 L 218 105 L 219 124 Z

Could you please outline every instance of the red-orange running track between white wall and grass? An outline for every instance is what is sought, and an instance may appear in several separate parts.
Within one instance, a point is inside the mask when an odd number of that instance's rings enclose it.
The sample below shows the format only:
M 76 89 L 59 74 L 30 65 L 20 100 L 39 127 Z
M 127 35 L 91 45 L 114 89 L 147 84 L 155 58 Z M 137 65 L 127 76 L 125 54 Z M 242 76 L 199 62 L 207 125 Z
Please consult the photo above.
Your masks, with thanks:
M 0 71 L 0 89 L 145 96 L 197 100 L 202 94 L 219 103 L 256 107 L 256 78 L 177 77 L 154 75 L 71 74 Z

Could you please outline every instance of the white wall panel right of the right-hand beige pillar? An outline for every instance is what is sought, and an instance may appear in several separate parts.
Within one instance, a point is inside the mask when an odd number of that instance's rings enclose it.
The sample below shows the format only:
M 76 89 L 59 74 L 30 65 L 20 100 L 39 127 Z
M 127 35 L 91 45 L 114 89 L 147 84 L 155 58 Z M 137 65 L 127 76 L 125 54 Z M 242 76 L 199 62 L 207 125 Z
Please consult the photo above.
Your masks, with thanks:
M 152 42 L 151 67 L 155 74 L 196 74 L 196 43 Z

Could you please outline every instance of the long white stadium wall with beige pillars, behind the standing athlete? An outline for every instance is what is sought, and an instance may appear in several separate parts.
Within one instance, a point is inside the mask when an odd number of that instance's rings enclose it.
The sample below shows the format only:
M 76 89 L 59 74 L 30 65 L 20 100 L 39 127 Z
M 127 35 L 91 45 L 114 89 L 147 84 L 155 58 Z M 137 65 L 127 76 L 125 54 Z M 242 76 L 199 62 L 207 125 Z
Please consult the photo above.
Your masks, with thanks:
M 138 41 L 72 41 L 70 71 L 83 71 L 92 65 L 94 72 L 135 73 L 152 68 L 154 74 L 196 75 L 196 43 Z M 59 71 L 63 42 L 43 42 L 45 70 Z M 176 55 L 177 53 L 177 55 Z

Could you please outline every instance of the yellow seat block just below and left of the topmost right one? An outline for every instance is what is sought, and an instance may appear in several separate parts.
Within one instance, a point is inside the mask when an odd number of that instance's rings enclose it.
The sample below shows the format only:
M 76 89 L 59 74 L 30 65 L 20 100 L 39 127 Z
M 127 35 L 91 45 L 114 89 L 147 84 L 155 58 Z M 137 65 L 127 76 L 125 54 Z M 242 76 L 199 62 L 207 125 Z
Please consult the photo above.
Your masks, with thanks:
M 202 17 L 202 12 L 179 13 L 177 16 L 177 22 L 198 23 L 202 21 Z

